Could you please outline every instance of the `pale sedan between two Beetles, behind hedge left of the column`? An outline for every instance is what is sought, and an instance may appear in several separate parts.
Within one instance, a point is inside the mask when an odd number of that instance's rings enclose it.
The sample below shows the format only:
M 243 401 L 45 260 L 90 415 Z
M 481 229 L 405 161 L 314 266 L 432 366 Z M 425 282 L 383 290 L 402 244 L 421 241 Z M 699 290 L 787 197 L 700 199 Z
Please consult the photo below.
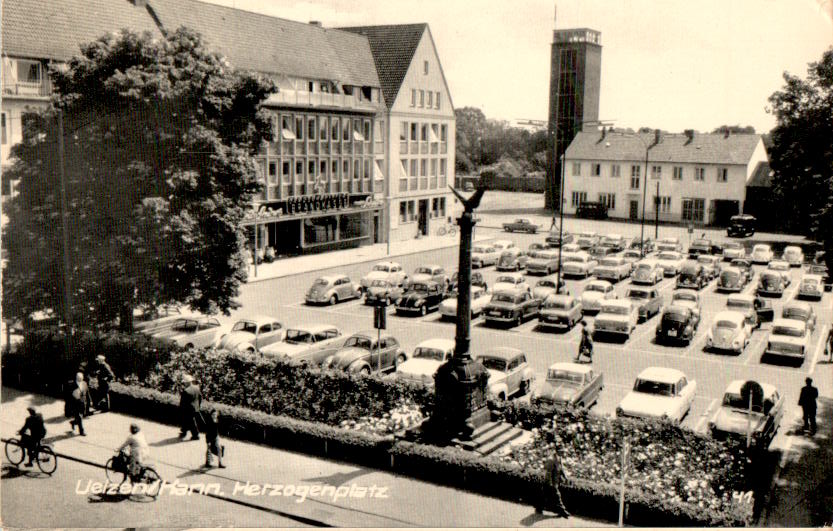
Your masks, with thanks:
M 319 367 L 344 345 L 341 330 L 332 325 L 313 324 L 287 327 L 283 341 L 260 349 L 266 358 Z

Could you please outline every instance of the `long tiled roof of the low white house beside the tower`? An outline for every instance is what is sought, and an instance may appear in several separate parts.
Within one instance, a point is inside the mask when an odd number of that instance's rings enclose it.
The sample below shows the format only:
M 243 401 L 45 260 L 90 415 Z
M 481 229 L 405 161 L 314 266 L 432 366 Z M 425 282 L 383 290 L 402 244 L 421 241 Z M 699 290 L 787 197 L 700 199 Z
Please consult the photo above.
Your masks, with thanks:
M 684 134 L 660 136 L 660 143 L 651 148 L 651 162 L 700 164 L 748 164 L 760 135 L 694 133 L 689 141 Z M 654 143 L 653 133 L 579 132 L 567 148 L 565 158 L 582 160 L 639 161 L 645 160 L 645 148 Z

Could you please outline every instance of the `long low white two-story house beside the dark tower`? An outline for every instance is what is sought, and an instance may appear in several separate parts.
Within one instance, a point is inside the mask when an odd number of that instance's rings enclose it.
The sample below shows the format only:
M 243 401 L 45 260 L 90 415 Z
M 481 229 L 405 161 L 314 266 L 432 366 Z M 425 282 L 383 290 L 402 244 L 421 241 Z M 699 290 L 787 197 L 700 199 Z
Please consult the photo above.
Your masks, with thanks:
M 598 201 L 612 218 L 722 225 L 767 153 L 760 135 L 602 129 L 578 133 L 564 161 L 565 213 Z

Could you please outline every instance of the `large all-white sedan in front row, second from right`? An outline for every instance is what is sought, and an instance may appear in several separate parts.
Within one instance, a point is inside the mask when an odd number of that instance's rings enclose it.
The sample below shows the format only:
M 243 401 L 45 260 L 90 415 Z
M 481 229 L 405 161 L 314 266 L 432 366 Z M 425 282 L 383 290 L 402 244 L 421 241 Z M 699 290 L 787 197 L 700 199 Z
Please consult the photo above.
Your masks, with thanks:
M 667 418 L 677 424 L 691 410 L 697 382 L 682 371 L 648 367 L 636 377 L 633 390 L 616 407 L 617 417 Z

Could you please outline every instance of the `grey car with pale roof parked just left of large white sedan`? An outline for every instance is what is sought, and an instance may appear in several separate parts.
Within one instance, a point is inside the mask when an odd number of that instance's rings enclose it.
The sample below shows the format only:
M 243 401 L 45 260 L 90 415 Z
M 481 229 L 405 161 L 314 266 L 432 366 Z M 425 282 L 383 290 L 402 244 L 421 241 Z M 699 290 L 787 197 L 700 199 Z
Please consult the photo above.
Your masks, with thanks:
M 590 365 L 553 363 L 547 378 L 532 391 L 530 402 L 536 405 L 568 405 L 589 408 L 599 400 L 604 376 Z

